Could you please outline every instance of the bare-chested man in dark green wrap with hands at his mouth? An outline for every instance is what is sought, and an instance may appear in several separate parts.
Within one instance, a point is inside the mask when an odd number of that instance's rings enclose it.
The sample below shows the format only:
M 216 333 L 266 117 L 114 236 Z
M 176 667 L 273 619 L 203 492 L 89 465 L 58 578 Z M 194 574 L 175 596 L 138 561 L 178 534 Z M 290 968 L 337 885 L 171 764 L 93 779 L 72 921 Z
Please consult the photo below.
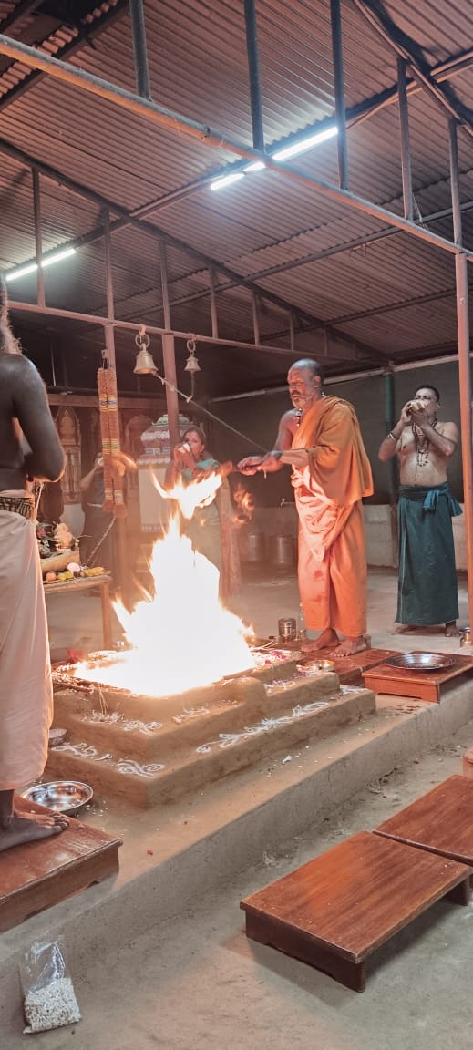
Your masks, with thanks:
M 397 633 L 445 624 L 458 634 L 458 596 L 448 462 L 458 443 L 455 423 L 437 419 L 439 394 L 420 386 L 380 446 L 381 460 L 400 458 Z

